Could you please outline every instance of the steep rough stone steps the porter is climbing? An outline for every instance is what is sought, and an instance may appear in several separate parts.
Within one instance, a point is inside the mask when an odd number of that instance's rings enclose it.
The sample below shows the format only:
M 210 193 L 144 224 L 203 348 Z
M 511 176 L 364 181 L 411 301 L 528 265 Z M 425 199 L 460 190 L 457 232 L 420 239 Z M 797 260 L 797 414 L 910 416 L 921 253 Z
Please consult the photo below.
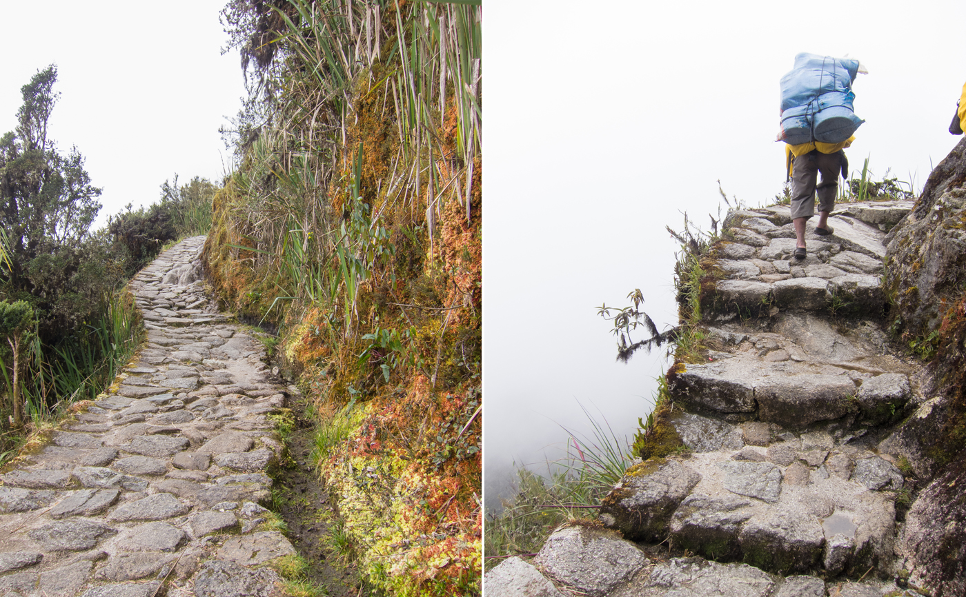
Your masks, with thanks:
M 928 405 L 881 327 L 879 280 L 911 206 L 846 204 L 833 235 L 810 223 L 803 260 L 787 206 L 731 212 L 702 262 L 719 275 L 702 288 L 709 349 L 668 375 L 688 452 L 629 469 L 603 529 L 557 529 L 491 570 L 487 595 L 918 595 L 895 583 L 908 487 L 893 425 Z M 666 542 L 695 557 L 659 556 Z

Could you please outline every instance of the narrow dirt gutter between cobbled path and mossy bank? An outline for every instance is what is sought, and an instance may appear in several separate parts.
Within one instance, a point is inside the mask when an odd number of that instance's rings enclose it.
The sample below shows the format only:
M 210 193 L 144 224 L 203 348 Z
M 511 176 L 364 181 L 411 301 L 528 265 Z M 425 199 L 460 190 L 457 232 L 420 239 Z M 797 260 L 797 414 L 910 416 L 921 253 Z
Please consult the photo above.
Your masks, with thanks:
M 289 406 L 296 418 L 288 438 L 291 462 L 275 476 L 275 495 L 281 497 L 275 507 L 288 525 L 289 539 L 309 564 L 308 580 L 324 587 L 328 597 L 375 594 L 359 580 L 355 568 L 327 544 L 328 521 L 338 514 L 312 462 L 314 421 L 303 418 L 304 404 Z

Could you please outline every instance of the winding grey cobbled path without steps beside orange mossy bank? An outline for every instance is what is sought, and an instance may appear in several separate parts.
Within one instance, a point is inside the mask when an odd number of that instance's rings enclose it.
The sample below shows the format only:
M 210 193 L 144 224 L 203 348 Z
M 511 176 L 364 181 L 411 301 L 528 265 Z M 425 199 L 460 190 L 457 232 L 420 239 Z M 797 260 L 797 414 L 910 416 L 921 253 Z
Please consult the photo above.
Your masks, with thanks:
M 120 383 L 0 476 L 0 595 L 277 594 L 261 566 L 295 550 L 259 502 L 282 450 L 268 416 L 295 390 L 209 302 L 204 241 L 130 283 L 147 340 Z

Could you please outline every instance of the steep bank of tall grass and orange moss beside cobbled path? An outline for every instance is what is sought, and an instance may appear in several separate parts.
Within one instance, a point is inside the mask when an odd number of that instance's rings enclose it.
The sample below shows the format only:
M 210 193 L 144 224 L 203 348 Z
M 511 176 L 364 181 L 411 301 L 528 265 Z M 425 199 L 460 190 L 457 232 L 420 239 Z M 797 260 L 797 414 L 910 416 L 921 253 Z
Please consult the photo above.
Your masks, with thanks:
M 367 582 L 480 592 L 481 10 L 233 0 L 249 95 L 204 258 L 277 329 Z

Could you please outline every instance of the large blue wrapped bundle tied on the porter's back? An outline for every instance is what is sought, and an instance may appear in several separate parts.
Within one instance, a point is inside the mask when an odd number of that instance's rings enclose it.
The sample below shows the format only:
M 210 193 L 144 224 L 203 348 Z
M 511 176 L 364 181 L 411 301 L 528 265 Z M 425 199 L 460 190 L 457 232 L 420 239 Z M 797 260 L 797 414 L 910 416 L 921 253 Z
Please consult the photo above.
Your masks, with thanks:
M 781 140 L 840 143 L 863 121 L 852 110 L 859 61 L 802 53 L 781 77 Z

